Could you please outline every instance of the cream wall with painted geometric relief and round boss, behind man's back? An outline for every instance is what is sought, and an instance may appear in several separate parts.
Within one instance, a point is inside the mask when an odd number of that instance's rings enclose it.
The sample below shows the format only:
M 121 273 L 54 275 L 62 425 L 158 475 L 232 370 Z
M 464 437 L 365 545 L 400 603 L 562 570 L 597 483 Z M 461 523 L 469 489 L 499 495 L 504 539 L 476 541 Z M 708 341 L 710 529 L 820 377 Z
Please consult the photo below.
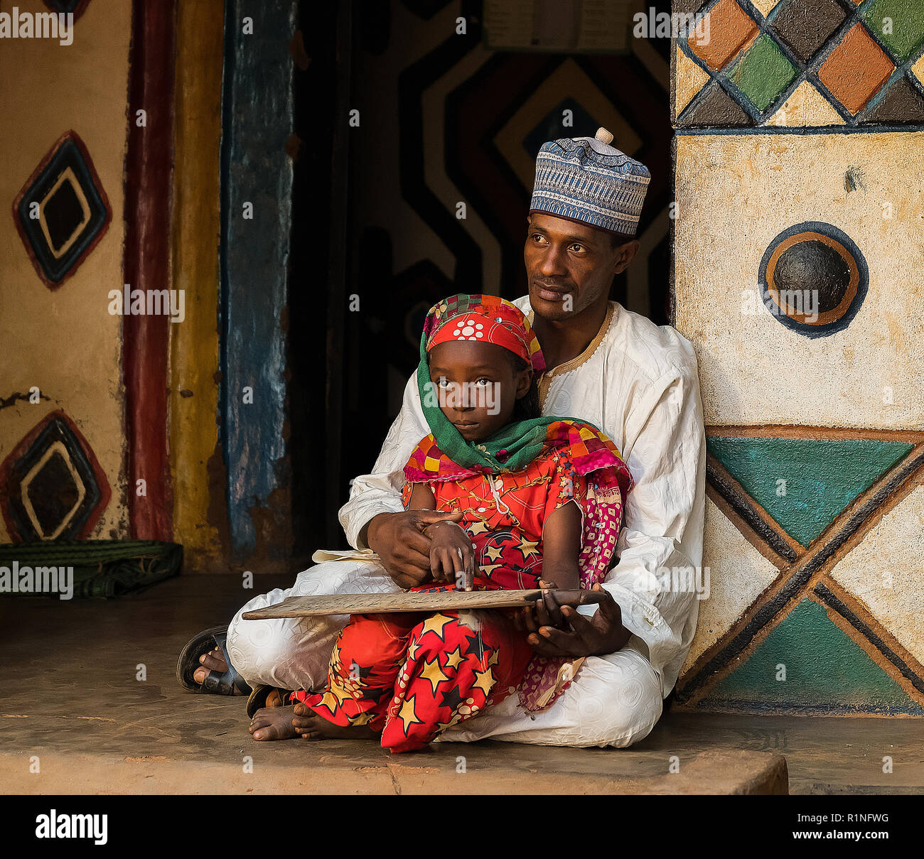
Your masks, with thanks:
M 683 707 L 924 714 L 924 3 L 690 0 L 676 326 L 711 596 Z

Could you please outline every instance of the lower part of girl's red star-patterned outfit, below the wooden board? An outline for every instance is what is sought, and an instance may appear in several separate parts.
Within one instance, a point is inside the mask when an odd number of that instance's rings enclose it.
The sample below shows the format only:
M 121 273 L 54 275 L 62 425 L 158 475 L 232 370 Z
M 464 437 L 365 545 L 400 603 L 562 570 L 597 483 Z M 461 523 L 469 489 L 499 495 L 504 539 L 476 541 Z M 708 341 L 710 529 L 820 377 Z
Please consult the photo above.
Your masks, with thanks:
M 498 611 L 355 615 L 337 638 L 327 687 L 291 699 L 410 752 L 516 692 L 531 655 Z

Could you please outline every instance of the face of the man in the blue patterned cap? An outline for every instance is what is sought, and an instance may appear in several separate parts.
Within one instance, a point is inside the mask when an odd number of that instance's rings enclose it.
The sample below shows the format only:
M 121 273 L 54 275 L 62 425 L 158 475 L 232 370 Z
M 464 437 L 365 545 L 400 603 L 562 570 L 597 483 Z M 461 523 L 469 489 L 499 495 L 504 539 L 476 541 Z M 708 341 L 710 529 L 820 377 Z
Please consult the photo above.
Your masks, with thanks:
M 638 241 L 614 248 L 602 230 L 532 212 L 523 248 L 530 306 L 553 321 L 580 313 L 609 295 L 613 275 L 622 272 L 637 251 Z

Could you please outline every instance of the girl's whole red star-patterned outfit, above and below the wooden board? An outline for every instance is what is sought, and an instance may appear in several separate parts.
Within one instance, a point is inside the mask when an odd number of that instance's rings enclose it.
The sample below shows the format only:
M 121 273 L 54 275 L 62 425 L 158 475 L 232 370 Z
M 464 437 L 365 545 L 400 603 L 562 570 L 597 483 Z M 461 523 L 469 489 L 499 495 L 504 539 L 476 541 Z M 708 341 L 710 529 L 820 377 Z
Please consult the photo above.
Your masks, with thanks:
M 581 511 L 580 585 L 602 582 L 632 487 L 613 442 L 570 420 L 551 425 L 541 454 L 519 471 L 485 474 L 458 466 L 430 435 L 419 442 L 405 474 L 406 508 L 414 484 L 423 482 L 437 510 L 462 513 L 478 590 L 538 587 L 542 526 L 570 502 Z M 524 708 L 549 707 L 581 661 L 535 655 L 505 611 L 354 615 L 337 638 L 326 687 L 295 692 L 292 699 L 336 725 L 369 725 L 382 732 L 383 746 L 403 752 L 517 690 Z

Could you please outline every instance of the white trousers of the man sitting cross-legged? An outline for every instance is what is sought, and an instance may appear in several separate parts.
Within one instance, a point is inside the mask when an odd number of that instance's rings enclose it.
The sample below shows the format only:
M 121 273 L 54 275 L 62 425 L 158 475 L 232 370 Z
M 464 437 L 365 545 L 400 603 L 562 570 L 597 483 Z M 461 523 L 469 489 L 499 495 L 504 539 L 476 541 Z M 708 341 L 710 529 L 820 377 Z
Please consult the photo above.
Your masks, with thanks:
M 400 590 L 376 561 L 327 561 L 298 574 L 295 585 L 251 599 L 228 626 L 231 663 L 249 684 L 313 689 L 327 679 L 334 641 L 348 615 L 245 621 L 244 611 L 262 609 L 286 597 Z M 554 704 L 538 713 L 520 708 L 511 695 L 479 716 L 441 735 L 452 743 L 491 737 L 536 745 L 625 747 L 648 736 L 662 712 L 661 682 L 635 636 L 604 657 L 588 657 Z

